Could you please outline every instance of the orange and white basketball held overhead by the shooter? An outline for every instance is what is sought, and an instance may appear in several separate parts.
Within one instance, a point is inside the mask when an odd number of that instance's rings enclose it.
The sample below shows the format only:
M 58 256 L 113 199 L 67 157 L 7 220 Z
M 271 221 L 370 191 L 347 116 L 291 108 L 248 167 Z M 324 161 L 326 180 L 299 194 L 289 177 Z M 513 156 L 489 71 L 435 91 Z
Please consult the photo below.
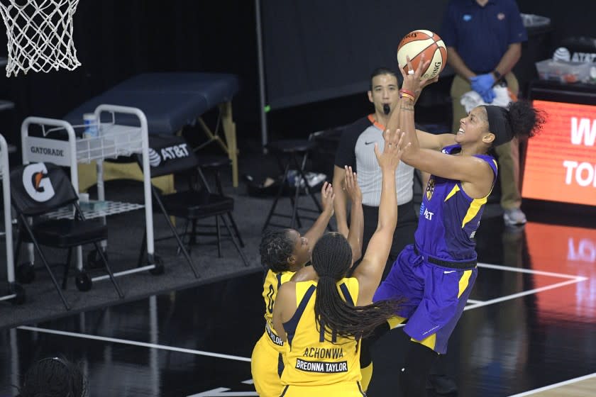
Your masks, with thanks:
M 413 30 L 402 38 L 397 46 L 397 64 L 407 72 L 406 57 L 409 57 L 416 69 L 422 54 L 431 61 L 428 69 L 422 72 L 422 79 L 434 79 L 446 65 L 447 47 L 438 34 L 430 30 Z

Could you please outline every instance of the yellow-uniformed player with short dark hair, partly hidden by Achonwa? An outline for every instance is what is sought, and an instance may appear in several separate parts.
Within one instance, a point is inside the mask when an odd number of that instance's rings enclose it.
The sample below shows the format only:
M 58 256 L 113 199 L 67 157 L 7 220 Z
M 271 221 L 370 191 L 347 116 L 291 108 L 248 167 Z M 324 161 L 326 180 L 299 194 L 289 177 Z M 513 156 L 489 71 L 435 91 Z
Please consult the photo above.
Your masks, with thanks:
M 280 354 L 285 345 L 273 330 L 273 305 L 280 286 L 292 279 L 295 272 L 310 261 L 311 244 L 319 240 L 333 215 L 334 195 L 331 184 L 323 185 L 321 198 L 323 212 L 304 237 L 294 229 L 267 230 L 260 243 L 261 261 L 268 268 L 263 282 L 265 332 L 253 349 L 250 364 L 255 388 L 260 396 L 279 396 L 282 392 L 280 374 L 283 362 Z M 302 277 L 309 278 L 309 273 L 302 273 Z

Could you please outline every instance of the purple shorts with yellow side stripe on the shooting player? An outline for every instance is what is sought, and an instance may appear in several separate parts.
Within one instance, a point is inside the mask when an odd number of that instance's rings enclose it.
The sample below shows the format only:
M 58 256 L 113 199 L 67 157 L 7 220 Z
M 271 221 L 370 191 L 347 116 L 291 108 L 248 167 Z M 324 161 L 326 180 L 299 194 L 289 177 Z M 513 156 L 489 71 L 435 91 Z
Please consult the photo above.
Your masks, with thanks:
M 447 352 L 447 342 L 463 313 L 478 268 L 453 269 L 427 262 L 408 245 L 399 254 L 387 279 L 381 283 L 373 301 L 404 298 L 395 313 L 407 318 L 404 331 L 439 354 Z

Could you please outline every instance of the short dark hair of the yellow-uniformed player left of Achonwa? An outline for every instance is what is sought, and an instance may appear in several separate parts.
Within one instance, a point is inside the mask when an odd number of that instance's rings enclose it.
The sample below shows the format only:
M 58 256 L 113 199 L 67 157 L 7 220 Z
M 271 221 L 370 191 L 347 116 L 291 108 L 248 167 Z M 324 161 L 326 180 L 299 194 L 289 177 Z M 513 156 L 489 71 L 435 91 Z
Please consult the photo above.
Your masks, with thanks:
M 287 258 L 294 253 L 294 241 L 288 235 L 288 229 L 267 229 L 259 245 L 261 263 L 272 272 L 281 273 L 289 270 Z

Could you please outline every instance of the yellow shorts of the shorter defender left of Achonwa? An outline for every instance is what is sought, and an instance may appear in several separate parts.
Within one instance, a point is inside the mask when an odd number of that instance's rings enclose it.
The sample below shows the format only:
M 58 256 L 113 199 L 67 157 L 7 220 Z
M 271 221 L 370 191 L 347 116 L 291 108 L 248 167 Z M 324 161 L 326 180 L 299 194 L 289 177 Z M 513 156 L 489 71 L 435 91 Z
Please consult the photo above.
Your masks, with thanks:
M 263 336 L 253 349 L 250 359 L 250 371 L 257 393 L 261 397 L 279 397 L 283 391 L 280 375 L 277 373 L 280 362 L 280 352 L 277 352 L 268 341 L 269 336 Z

